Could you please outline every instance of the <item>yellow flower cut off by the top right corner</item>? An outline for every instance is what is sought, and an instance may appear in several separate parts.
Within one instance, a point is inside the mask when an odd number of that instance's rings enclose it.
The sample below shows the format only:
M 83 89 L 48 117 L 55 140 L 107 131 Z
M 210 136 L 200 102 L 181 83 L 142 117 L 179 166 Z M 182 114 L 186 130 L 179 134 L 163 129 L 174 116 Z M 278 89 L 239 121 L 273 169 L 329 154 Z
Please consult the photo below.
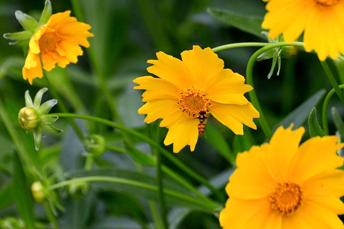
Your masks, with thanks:
M 321 61 L 344 53 L 343 0 L 265 0 L 268 2 L 262 27 L 271 38 L 284 34 L 292 42 L 304 32 L 306 52 L 315 50 Z

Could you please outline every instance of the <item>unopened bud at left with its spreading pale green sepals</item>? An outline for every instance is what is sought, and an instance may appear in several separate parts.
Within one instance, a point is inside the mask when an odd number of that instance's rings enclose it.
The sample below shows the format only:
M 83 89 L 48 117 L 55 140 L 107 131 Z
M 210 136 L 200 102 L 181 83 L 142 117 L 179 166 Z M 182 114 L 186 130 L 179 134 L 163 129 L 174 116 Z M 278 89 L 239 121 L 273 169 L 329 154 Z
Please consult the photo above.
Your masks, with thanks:
M 49 100 L 40 105 L 43 94 L 48 88 L 40 89 L 32 102 L 29 91 L 25 92 L 25 107 L 20 109 L 18 120 L 26 131 L 33 130 L 34 142 L 36 150 L 38 150 L 42 139 L 42 129 L 51 133 L 60 133 L 59 130 L 51 125 L 59 117 L 56 115 L 48 115 L 50 109 L 57 104 L 57 100 Z

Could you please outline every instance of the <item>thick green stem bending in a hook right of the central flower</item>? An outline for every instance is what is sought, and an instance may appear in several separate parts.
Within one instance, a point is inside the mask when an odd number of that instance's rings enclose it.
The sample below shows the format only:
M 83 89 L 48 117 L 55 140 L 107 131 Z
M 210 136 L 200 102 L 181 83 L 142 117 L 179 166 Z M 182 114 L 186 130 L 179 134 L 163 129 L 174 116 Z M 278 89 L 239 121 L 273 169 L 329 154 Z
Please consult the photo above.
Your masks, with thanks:
M 283 47 L 283 46 L 290 46 L 290 45 L 294 45 L 294 46 L 300 46 L 303 47 L 303 42 L 291 42 L 291 43 L 287 43 L 287 42 L 279 42 L 279 43 L 272 43 L 269 45 L 266 45 L 265 47 L 259 49 L 258 51 L 256 51 L 251 58 L 249 59 L 248 63 L 247 63 L 247 68 L 246 68 L 246 80 L 247 80 L 247 84 L 251 85 L 253 87 L 253 89 L 251 91 L 249 91 L 249 97 L 251 99 L 251 103 L 252 105 L 255 107 L 255 109 L 257 109 L 257 111 L 259 111 L 261 117 L 258 119 L 263 131 L 266 135 L 266 137 L 268 139 L 271 139 L 272 136 L 272 131 L 271 128 L 269 127 L 269 124 L 265 118 L 265 115 L 262 111 L 261 105 L 259 104 L 257 95 L 255 94 L 255 89 L 253 86 L 253 80 L 252 80 L 252 71 L 253 71 L 253 64 L 255 62 L 255 60 L 264 52 L 270 50 L 270 49 L 275 49 L 277 47 Z

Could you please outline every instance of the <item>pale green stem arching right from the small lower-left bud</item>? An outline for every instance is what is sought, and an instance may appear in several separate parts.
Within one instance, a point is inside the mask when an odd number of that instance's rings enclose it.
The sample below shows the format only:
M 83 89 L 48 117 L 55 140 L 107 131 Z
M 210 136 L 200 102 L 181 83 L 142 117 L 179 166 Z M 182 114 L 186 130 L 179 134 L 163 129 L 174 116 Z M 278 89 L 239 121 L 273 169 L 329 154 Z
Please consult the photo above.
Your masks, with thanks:
M 48 190 L 59 189 L 59 188 L 62 188 L 64 186 L 69 186 L 71 184 L 78 184 L 78 183 L 82 183 L 82 182 L 92 182 L 92 181 L 113 182 L 113 183 L 117 183 L 117 184 L 135 186 L 135 187 L 139 187 L 139 188 L 143 188 L 143 189 L 147 189 L 147 190 L 151 190 L 151 191 L 155 191 L 155 192 L 158 191 L 156 186 L 147 185 L 143 182 L 123 179 L 123 178 L 118 178 L 118 177 L 109 177 L 109 176 L 85 176 L 85 177 L 73 178 L 73 179 L 65 180 L 65 181 L 59 182 L 55 185 L 52 185 L 52 186 L 48 187 Z M 217 204 L 212 203 L 211 205 L 209 205 L 208 203 L 204 203 L 204 201 L 202 201 L 202 200 L 199 200 L 199 199 L 196 199 L 194 197 L 184 195 L 184 194 L 181 194 L 181 193 L 178 193 L 175 191 L 163 190 L 163 192 L 167 196 L 175 197 L 175 198 L 178 198 L 182 201 L 184 200 L 184 201 L 187 201 L 189 203 L 193 203 L 195 205 L 198 205 L 199 207 L 202 207 L 202 208 L 210 210 L 210 211 L 213 211 L 214 209 L 217 209 L 220 207 Z

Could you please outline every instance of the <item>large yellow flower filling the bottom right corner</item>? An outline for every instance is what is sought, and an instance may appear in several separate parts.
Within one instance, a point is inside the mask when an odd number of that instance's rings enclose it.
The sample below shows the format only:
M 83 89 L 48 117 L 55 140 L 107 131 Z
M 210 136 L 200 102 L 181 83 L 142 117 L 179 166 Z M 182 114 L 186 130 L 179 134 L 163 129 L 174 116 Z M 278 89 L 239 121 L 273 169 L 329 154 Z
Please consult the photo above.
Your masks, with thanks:
M 238 154 L 220 213 L 231 229 L 344 228 L 343 158 L 337 136 L 319 136 L 299 146 L 303 127 L 279 127 L 270 143 Z

